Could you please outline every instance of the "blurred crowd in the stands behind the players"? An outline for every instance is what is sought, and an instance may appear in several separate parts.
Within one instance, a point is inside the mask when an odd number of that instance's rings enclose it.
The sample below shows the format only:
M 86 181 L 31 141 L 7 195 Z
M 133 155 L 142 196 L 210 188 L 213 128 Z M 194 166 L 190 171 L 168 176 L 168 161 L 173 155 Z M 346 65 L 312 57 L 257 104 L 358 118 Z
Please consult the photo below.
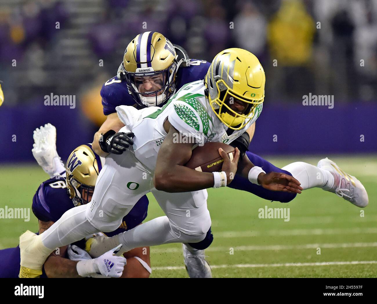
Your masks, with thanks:
M 300 105 L 309 93 L 376 102 L 377 0 L 0 0 L 3 107 L 75 94 L 98 125 L 101 85 L 147 30 L 190 58 L 251 51 L 266 72 L 265 103 Z

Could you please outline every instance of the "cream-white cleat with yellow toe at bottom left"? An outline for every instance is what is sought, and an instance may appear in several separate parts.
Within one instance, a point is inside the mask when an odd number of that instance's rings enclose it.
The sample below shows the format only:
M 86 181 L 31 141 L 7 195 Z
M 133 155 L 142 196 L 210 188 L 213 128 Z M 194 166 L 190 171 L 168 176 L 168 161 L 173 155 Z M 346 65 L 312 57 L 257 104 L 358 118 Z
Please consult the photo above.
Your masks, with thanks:
M 46 248 L 40 236 L 27 230 L 20 236 L 20 278 L 39 278 L 42 266 L 52 251 Z

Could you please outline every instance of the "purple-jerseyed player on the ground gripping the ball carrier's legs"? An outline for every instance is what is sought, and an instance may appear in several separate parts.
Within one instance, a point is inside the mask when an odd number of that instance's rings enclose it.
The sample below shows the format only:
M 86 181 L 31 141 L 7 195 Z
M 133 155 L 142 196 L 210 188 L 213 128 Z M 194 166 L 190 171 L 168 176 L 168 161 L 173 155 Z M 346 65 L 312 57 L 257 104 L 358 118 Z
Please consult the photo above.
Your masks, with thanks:
M 34 132 L 33 155 L 38 163 L 43 163 L 44 159 L 44 163 L 49 164 L 50 170 L 48 166 L 43 169 L 51 177 L 40 184 L 32 201 L 32 211 L 38 218 L 39 234 L 47 230 L 67 210 L 87 204 L 91 200 L 102 168 L 103 160 L 93 152 L 90 144 L 77 147 L 68 158 L 66 168 L 61 165 L 60 158 L 54 161 L 54 158 L 58 157 L 54 148 L 55 132 L 55 127 L 50 124 L 41 126 Z M 54 176 L 54 171 L 61 174 Z M 114 236 L 141 224 L 147 216 L 147 209 L 148 200 L 141 199 L 123 218 L 120 227 L 106 235 Z M 41 277 L 147 278 L 152 272 L 149 247 L 135 248 L 126 252 L 124 257 L 113 255 L 116 253 L 114 248 L 101 258 L 92 259 L 84 246 L 85 242 L 81 240 L 57 248 L 45 261 Z M 17 278 L 20 272 L 20 247 L 0 250 L 0 261 L 0 277 Z

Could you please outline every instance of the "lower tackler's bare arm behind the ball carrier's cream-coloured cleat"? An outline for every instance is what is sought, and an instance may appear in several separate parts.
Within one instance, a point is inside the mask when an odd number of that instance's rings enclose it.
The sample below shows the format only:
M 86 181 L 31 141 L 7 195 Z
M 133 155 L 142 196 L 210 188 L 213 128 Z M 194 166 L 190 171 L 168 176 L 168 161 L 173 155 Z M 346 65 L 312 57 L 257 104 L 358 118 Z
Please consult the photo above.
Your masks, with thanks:
M 43 222 L 38 220 L 39 234 L 46 231 L 54 222 Z M 66 255 L 67 246 L 54 250 L 44 262 L 44 272 L 49 278 L 81 278 L 77 273 L 76 261 L 63 258 Z

